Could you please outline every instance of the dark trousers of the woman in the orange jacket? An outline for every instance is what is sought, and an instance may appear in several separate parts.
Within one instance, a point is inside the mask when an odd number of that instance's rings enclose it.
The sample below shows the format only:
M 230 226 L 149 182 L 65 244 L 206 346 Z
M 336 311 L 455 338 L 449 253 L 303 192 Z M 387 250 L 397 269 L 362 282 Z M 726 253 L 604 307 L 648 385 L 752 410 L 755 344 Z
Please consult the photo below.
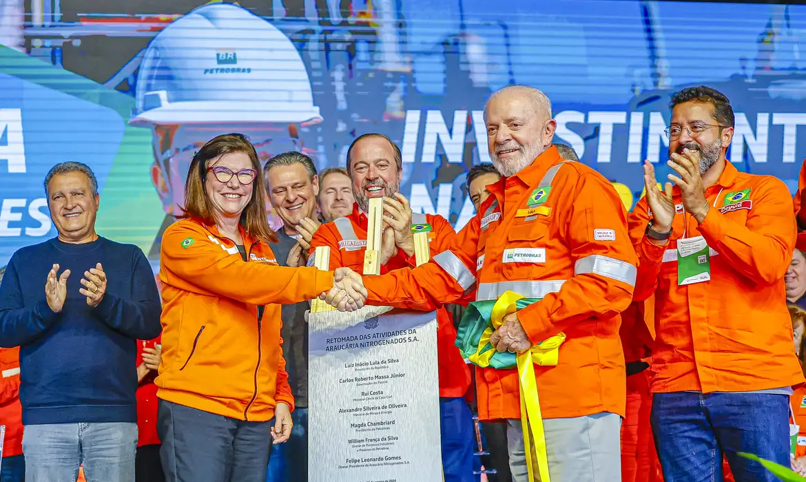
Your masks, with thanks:
M 160 400 L 157 433 L 165 480 L 265 482 L 272 426 Z

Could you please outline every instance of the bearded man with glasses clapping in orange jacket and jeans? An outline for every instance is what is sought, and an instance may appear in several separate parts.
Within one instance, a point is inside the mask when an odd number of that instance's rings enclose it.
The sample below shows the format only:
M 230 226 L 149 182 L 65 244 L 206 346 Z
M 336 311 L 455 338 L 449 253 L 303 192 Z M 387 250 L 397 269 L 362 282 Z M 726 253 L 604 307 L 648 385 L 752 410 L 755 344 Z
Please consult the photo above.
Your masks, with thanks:
M 796 225 L 786 185 L 738 172 L 728 98 L 692 87 L 671 98 L 668 176 L 648 161 L 630 218 L 636 301 L 654 293 L 652 428 L 666 482 L 775 476 L 737 455 L 789 466 L 789 395 L 804 376 L 792 352 L 783 275 Z M 665 180 L 662 180 L 665 181 Z

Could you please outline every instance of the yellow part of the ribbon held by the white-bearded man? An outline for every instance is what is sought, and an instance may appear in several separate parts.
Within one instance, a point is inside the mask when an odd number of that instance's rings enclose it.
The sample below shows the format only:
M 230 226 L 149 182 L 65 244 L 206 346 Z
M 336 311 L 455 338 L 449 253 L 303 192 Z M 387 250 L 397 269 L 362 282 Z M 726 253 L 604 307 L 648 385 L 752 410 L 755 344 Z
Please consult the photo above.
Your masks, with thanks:
M 492 328 L 484 330 L 479 340 L 476 354 L 468 359 L 480 367 L 487 367 L 496 350 L 481 353 L 481 349 L 488 345 L 492 333 L 504 322 L 508 314 L 518 310 L 517 301 L 524 299 L 521 295 L 507 291 L 498 298 L 492 306 L 490 321 Z M 526 450 L 526 467 L 529 470 L 529 480 L 534 482 L 535 463 L 541 482 L 550 482 L 549 463 L 546 455 L 546 433 L 543 430 L 543 418 L 540 412 L 540 397 L 538 397 L 538 383 L 534 375 L 534 364 L 554 366 L 559 360 L 559 347 L 565 341 L 565 334 L 555 334 L 542 343 L 535 345 L 528 351 L 517 354 L 517 376 L 521 388 L 521 430 L 523 430 L 523 445 Z M 534 455 L 532 457 L 532 440 L 534 438 Z

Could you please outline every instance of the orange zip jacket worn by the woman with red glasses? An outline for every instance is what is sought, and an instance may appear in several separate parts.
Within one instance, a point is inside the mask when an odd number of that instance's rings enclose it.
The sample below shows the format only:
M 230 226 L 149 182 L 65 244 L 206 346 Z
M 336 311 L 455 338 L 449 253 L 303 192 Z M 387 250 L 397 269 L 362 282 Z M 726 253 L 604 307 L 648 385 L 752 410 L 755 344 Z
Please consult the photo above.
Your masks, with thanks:
M 278 266 L 267 243 L 243 230 L 241 236 L 247 261 L 215 226 L 183 219 L 165 230 L 157 396 L 224 417 L 266 422 L 277 402 L 293 409 L 280 304 L 329 291 L 333 272 Z

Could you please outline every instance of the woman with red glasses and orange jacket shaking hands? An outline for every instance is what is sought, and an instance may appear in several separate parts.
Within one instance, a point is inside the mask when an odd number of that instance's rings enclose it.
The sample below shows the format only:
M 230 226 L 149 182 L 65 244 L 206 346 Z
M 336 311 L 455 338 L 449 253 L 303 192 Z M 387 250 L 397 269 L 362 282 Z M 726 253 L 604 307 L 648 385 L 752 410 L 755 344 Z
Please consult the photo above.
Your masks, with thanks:
M 274 443 L 291 434 L 294 401 L 280 304 L 336 285 L 355 309 L 350 272 L 277 265 L 255 148 L 219 135 L 193 156 L 181 220 L 160 253 L 162 361 L 157 432 L 168 482 L 264 482 Z M 272 419 L 274 423 L 272 424 Z

